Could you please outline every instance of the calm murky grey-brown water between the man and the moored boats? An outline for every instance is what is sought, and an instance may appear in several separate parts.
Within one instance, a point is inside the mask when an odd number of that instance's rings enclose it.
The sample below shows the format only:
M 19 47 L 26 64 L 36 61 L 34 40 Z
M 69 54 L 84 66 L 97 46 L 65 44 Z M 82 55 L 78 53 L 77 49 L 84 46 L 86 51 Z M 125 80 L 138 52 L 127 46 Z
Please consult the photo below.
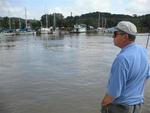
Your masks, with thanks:
M 146 39 L 138 36 L 137 43 L 145 46 Z M 0 112 L 99 113 L 120 51 L 112 41 L 96 34 L 0 38 Z M 150 112 L 149 85 L 145 113 Z

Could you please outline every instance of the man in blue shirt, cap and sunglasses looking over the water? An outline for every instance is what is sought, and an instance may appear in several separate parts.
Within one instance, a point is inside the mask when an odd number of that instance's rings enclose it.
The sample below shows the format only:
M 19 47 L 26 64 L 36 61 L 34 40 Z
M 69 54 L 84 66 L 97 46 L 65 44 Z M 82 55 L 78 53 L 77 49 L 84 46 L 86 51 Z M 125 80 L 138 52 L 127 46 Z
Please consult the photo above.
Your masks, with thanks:
M 136 26 L 121 21 L 115 27 L 114 45 L 121 48 L 115 58 L 102 100 L 102 113 L 141 113 L 144 85 L 150 76 L 147 50 L 136 44 Z

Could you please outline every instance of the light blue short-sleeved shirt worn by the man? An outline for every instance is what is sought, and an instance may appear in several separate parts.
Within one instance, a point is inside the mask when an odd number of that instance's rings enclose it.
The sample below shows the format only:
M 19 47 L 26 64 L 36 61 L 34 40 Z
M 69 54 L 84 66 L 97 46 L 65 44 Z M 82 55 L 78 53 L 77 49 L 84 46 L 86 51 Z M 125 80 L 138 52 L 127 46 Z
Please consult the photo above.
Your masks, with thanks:
M 143 103 L 144 84 L 149 76 L 147 50 L 135 43 L 129 44 L 112 64 L 107 94 L 115 98 L 113 103 Z

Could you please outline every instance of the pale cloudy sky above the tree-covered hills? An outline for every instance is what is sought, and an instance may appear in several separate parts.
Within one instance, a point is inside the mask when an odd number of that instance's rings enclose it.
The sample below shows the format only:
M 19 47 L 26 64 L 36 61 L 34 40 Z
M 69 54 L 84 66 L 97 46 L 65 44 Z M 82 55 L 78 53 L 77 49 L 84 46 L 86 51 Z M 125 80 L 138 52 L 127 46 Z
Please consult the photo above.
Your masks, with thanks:
M 62 13 L 65 17 L 89 12 L 112 14 L 150 14 L 150 0 L 0 0 L 0 16 L 40 19 L 47 13 Z

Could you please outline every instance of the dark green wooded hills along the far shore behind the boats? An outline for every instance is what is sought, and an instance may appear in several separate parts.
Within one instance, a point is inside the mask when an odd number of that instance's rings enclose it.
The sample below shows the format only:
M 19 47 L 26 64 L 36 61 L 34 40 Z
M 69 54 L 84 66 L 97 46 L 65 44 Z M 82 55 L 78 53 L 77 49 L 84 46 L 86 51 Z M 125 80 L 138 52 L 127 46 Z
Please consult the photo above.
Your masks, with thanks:
M 150 14 L 137 16 L 124 15 L 124 14 L 111 14 L 107 12 L 93 12 L 82 14 L 80 16 L 68 16 L 64 18 L 63 14 L 55 13 L 55 25 L 57 27 L 72 28 L 75 24 L 86 24 L 87 28 L 93 26 L 97 27 L 114 27 L 119 21 L 126 20 L 133 22 L 139 32 L 150 32 Z M 40 27 L 54 27 L 54 14 L 44 14 L 40 20 L 27 20 L 32 29 Z M 19 24 L 21 23 L 21 25 Z M 15 17 L 0 17 L 0 28 L 18 29 L 25 28 L 25 20 Z

